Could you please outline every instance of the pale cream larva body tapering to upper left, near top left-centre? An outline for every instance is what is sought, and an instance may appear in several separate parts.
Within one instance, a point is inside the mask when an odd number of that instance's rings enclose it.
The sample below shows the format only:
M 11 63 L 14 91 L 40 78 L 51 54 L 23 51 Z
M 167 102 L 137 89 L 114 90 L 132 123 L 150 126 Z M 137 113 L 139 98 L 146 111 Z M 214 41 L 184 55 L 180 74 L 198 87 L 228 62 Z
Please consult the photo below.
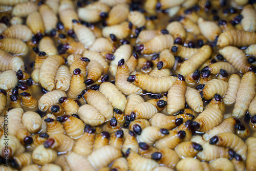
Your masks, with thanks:
M 78 22 L 74 22 L 73 27 L 78 40 L 84 47 L 90 47 L 93 45 L 96 37 L 89 28 Z

